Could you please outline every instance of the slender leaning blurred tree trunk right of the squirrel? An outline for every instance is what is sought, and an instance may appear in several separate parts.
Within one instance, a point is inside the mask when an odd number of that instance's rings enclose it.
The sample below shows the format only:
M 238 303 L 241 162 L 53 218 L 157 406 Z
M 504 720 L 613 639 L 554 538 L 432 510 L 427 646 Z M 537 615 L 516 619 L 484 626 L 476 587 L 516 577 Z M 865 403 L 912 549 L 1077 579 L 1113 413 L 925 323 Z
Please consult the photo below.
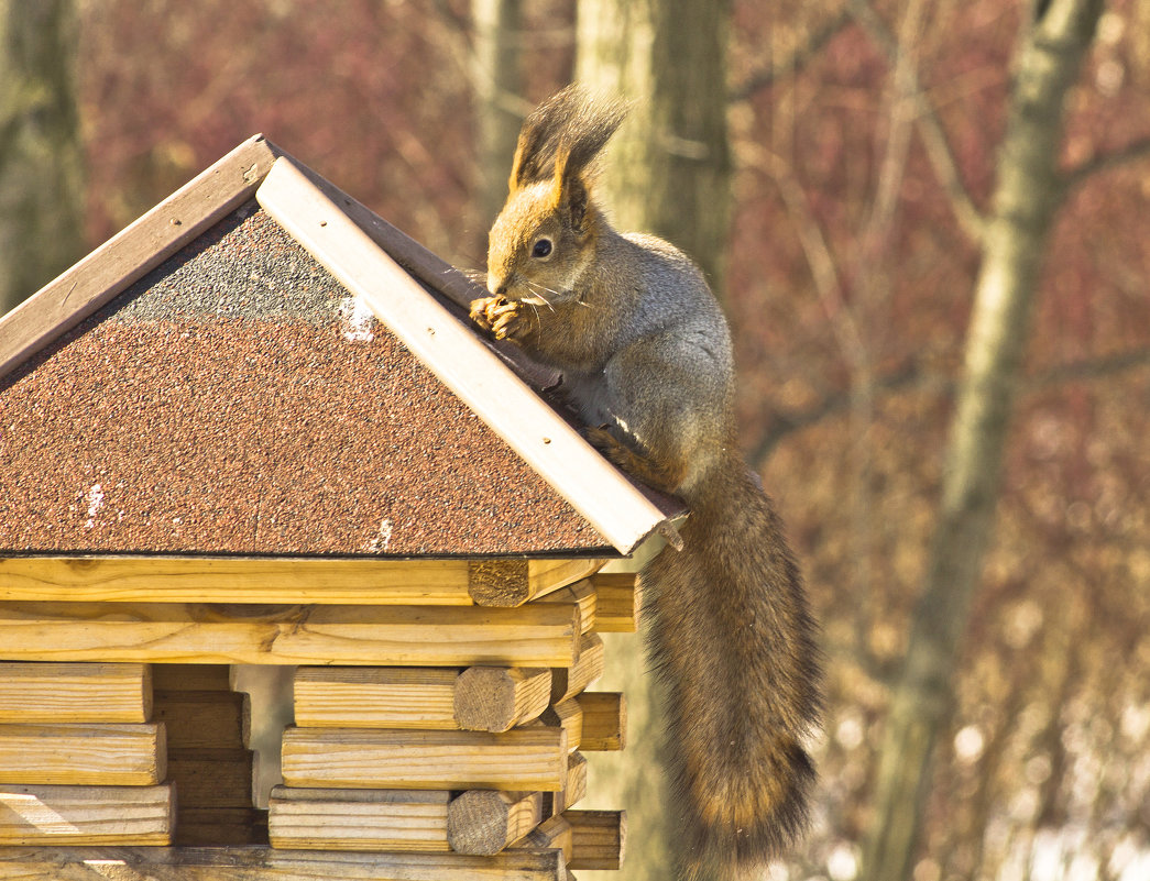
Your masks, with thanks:
M 1040 5 L 1017 51 L 941 510 L 880 755 L 866 881 L 902 881 L 913 871 L 933 751 L 952 709 L 960 640 L 994 526 L 1030 304 L 1065 193 L 1057 171 L 1063 107 L 1102 6 L 1102 0 Z

